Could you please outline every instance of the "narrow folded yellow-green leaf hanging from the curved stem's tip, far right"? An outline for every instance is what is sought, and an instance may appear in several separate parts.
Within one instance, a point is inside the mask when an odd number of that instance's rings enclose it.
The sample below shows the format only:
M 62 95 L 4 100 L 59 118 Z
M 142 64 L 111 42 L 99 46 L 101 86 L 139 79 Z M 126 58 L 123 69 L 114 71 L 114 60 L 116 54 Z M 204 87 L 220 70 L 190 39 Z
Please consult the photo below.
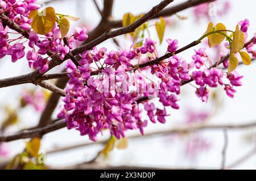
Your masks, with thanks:
M 237 25 L 236 31 L 233 33 L 231 53 L 237 53 L 243 48 L 243 45 L 245 45 L 245 35 L 239 30 L 239 26 Z

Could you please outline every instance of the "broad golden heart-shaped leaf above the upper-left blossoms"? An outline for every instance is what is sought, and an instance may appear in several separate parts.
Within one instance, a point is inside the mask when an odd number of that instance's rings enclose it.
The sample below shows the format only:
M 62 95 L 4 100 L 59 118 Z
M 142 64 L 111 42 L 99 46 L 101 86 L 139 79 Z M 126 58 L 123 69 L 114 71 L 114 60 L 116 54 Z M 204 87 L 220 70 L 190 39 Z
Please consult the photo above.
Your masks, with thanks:
M 28 18 L 32 18 L 31 27 L 36 33 L 46 35 L 55 26 L 56 14 L 53 7 L 47 7 L 42 12 L 38 10 L 30 11 Z

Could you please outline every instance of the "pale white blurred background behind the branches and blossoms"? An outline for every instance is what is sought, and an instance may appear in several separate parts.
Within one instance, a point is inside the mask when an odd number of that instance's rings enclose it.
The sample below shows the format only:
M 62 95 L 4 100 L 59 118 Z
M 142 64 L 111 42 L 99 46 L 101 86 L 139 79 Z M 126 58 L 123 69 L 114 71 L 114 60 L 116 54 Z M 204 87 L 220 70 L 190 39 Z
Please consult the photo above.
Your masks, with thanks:
M 42 1 L 43 2 L 43 1 Z M 114 1 L 113 19 L 122 19 L 123 14 L 131 12 L 141 14 L 147 12 L 152 6 L 160 1 Z M 184 1 L 174 1 L 168 7 L 177 5 Z M 102 8 L 102 1 L 97 1 Z M 93 30 L 101 19 L 96 6 L 92 0 L 74 1 L 51 1 L 47 6 L 53 6 L 56 12 L 68 14 L 80 18 L 72 22 L 72 27 L 84 26 L 88 31 Z M 179 40 L 179 47 L 198 39 L 211 20 L 214 23 L 224 23 L 229 30 L 234 30 L 240 20 L 249 19 L 249 39 L 256 32 L 255 18 L 256 1 L 247 0 L 219 0 L 212 4 L 191 7 L 180 11 L 176 15 L 166 18 L 167 29 L 164 32 L 164 39 L 171 38 Z M 212 8 L 212 9 L 211 9 Z M 209 10 L 213 10 L 210 12 Z M 216 12 L 216 13 L 215 13 Z M 150 21 L 149 24 L 154 24 Z M 71 28 L 72 29 L 72 28 Z M 151 39 L 157 40 L 158 36 L 155 27 L 149 27 Z M 148 35 L 146 35 L 148 36 Z M 115 38 L 121 48 L 129 48 L 131 41 L 125 36 Z M 166 52 L 166 42 L 158 43 L 159 54 Z M 107 40 L 98 45 L 108 50 L 117 50 L 113 40 Z M 161 47 L 162 50 L 161 50 Z M 207 47 L 207 44 L 200 44 L 195 47 L 199 49 Z M 194 48 L 182 52 L 187 62 L 192 61 Z M 207 53 L 214 60 L 219 49 L 208 49 Z M 224 53 L 227 53 L 223 49 Z M 0 78 L 12 77 L 28 73 L 26 58 L 12 63 L 9 58 L 0 60 Z M 59 72 L 64 65 L 57 66 L 51 72 Z M 202 103 L 195 95 L 195 89 L 191 85 L 185 85 L 179 96 L 180 110 L 168 110 L 171 116 L 166 124 L 152 124 L 144 129 L 145 136 L 139 131 L 129 131 L 127 149 L 114 148 L 108 157 L 99 157 L 100 164 L 111 166 L 141 166 L 160 168 L 195 168 L 195 169 L 220 169 L 223 162 L 223 150 L 226 145 L 225 165 L 230 169 L 256 169 L 256 129 L 204 129 L 192 132 L 171 132 L 177 128 L 189 128 L 193 125 L 237 125 L 256 122 L 256 85 L 254 62 L 250 66 L 239 66 L 237 71 L 243 75 L 243 86 L 237 87 L 233 99 L 225 95 L 222 89 L 210 90 L 208 103 Z M 0 123 L 10 123 L 5 133 L 18 132 L 21 129 L 31 128 L 38 124 L 44 104 L 50 92 L 34 85 L 19 85 L 0 89 Z M 28 103 L 24 106 L 24 102 Z M 158 103 L 154 102 L 156 106 Z M 61 102 L 59 102 L 61 104 Z M 24 106 L 24 107 L 22 107 Z M 56 118 L 58 108 L 53 113 Z M 147 119 L 147 116 L 144 115 Z M 170 131 L 167 133 L 167 131 Z M 164 132 L 165 134 L 162 134 Z M 149 136 L 148 136 L 149 135 Z M 72 168 L 78 163 L 90 161 L 104 148 L 104 141 L 109 138 L 108 132 L 99 137 L 99 142 L 89 141 L 87 136 L 80 136 L 76 130 L 68 131 L 67 128 L 46 134 L 42 140 L 40 150 L 46 151 L 46 165 L 54 168 Z M 16 154 L 24 149 L 24 140 L 12 141 L 0 144 L 0 163 L 9 162 Z M 241 158 L 241 159 L 240 159 Z M 76 168 L 76 167 L 73 167 Z

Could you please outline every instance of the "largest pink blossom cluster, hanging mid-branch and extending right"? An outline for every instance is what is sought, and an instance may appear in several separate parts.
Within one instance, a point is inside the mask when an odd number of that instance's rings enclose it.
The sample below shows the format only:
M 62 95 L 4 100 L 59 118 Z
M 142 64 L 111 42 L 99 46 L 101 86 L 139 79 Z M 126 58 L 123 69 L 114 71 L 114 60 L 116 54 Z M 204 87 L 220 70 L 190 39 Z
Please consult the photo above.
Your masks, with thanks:
M 167 39 L 167 44 L 167 52 L 175 53 L 177 40 Z M 144 133 L 148 120 L 142 120 L 143 112 L 152 123 L 166 123 L 169 116 L 166 108 L 179 109 L 177 96 L 183 81 L 195 79 L 196 95 L 203 102 L 208 100 L 208 87 L 224 86 L 226 94 L 233 98 L 234 86 L 242 85 L 242 76 L 236 71 L 228 74 L 216 67 L 207 68 L 209 58 L 205 48 L 195 50 L 190 64 L 174 55 L 159 64 L 138 69 L 138 64 L 154 60 L 157 55 L 156 42 L 146 38 L 142 47 L 129 51 L 107 52 L 106 48 L 94 47 L 80 54 L 79 67 L 68 61 L 66 69 L 70 79 L 58 117 L 65 119 L 68 129 L 75 128 L 93 141 L 97 141 L 97 135 L 105 129 L 121 138 L 129 129 Z M 92 75 L 93 64 L 100 72 L 97 76 Z M 137 89 L 134 90 L 134 86 Z M 141 102 L 143 98 L 146 99 Z M 158 98 L 162 108 L 156 107 L 150 98 Z

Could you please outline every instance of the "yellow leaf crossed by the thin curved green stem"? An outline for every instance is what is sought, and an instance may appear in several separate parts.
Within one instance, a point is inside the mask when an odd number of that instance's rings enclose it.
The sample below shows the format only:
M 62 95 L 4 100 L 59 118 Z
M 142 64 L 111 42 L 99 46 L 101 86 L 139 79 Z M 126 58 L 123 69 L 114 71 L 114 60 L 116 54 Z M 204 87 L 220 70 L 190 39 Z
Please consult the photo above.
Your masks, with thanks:
M 224 24 L 218 23 L 218 24 L 216 24 L 215 27 L 213 27 L 212 22 L 210 22 L 208 24 L 207 33 L 212 32 L 212 31 L 220 31 L 220 30 L 226 30 L 226 27 L 224 26 Z M 222 31 L 222 32 L 225 33 L 225 31 Z M 217 32 L 210 34 L 207 37 L 208 37 L 209 47 L 214 47 L 215 45 L 220 44 L 225 39 L 224 35 L 222 35 L 221 33 L 217 33 Z

